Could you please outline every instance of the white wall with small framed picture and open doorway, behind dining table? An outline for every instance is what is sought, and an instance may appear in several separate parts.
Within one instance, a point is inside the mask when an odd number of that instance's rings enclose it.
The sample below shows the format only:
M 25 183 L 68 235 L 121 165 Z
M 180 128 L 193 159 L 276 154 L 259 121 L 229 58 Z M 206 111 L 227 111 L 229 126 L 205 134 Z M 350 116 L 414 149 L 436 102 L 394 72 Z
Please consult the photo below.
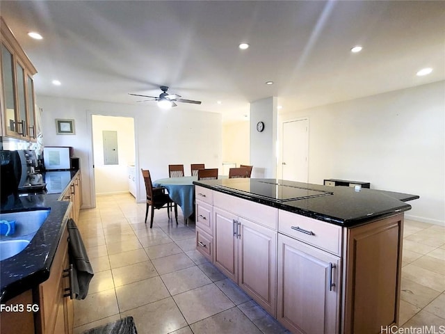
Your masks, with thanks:
M 222 121 L 218 113 L 185 111 L 177 106 L 161 111 L 156 104 L 114 104 L 64 97 L 37 97 L 43 109 L 44 145 L 73 146 L 81 158 L 83 207 L 94 203 L 92 177 L 91 115 L 133 117 L 135 122 L 136 170 L 148 168 L 152 179 L 168 177 L 168 164 L 221 166 Z M 76 134 L 57 136 L 56 118 L 75 120 Z M 138 177 L 138 201 L 145 198 L 143 179 Z M 93 198 L 93 199 L 91 199 Z

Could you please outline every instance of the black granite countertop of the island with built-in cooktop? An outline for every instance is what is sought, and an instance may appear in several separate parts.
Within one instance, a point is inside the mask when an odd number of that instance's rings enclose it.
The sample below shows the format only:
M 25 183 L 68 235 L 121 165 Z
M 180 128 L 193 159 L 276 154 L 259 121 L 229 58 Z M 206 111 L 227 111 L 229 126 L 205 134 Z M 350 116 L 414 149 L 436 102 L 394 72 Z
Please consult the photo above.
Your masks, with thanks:
M 345 227 L 411 209 L 416 195 L 275 179 L 221 179 L 196 185 Z

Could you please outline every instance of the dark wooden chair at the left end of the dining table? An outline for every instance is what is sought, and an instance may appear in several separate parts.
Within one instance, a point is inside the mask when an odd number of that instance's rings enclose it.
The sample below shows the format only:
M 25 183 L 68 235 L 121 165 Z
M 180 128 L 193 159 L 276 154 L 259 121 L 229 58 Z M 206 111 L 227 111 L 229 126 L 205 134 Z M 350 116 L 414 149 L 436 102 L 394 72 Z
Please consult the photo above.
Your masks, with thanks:
M 140 171 L 142 172 L 142 176 L 144 177 L 145 191 L 147 192 L 147 209 L 145 209 L 145 223 L 147 223 L 148 209 L 150 205 L 152 206 L 152 215 L 150 217 L 150 228 L 153 227 L 154 209 L 162 209 L 163 207 L 165 207 L 165 205 L 167 205 L 165 208 L 167 208 L 168 219 L 170 219 L 169 208 L 172 207 L 172 205 L 174 205 L 175 218 L 177 224 L 178 223 L 177 204 L 171 200 L 168 194 L 165 193 L 165 188 L 153 187 L 152 177 L 150 177 L 149 170 L 144 170 L 140 168 Z

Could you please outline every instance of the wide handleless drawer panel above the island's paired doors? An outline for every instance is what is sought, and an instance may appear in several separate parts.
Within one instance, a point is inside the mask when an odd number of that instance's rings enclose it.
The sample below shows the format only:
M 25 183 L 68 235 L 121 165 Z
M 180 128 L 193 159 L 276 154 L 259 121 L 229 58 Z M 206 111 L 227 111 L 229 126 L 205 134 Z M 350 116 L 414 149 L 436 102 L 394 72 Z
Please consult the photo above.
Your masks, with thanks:
M 225 209 L 228 212 L 241 216 L 255 223 L 277 230 L 277 209 L 267 205 L 244 200 L 236 196 L 215 191 L 213 193 L 213 206 Z

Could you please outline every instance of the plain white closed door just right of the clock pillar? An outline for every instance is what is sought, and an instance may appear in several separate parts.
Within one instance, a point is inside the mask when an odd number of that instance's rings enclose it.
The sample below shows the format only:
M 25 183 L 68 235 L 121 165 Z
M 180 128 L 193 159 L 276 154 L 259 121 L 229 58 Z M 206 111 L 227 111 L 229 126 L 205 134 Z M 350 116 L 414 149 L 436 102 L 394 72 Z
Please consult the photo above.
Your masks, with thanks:
M 308 181 L 309 120 L 283 122 L 282 178 Z

